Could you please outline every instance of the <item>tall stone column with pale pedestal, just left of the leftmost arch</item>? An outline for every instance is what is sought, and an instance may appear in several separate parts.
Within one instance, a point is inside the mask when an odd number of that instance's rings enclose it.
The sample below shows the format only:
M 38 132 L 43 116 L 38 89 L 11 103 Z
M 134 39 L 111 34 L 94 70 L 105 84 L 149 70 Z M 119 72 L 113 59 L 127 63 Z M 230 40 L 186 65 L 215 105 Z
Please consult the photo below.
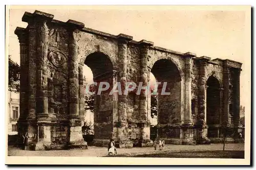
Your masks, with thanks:
M 79 118 L 79 69 L 76 34 L 84 27 L 81 22 L 68 20 L 69 31 L 69 147 L 86 148 L 87 143 L 82 137 L 82 125 Z

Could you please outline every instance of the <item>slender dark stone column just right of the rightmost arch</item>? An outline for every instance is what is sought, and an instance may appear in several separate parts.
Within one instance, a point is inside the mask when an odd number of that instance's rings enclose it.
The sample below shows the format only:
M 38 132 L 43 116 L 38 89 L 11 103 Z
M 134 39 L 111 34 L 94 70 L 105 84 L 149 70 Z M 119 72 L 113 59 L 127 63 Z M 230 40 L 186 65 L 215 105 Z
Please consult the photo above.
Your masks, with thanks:
M 227 122 L 227 124 L 230 124 L 229 122 L 229 67 L 227 63 L 224 63 L 223 65 L 223 122 Z

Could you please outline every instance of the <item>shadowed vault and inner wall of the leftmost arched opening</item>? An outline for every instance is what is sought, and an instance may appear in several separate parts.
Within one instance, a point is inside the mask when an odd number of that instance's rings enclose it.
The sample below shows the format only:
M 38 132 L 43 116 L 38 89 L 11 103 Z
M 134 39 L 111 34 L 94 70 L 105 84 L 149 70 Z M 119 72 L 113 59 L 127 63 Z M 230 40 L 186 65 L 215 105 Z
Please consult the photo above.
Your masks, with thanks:
M 93 94 L 93 128 L 94 128 L 94 138 L 95 139 L 110 139 L 113 132 L 113 96 L 109 95 L 110 90 L 113 87 L 113 64 L 110 58 L 100 52 L 95 52 L 87 56 L 84 61 L 84 67 L 89 67 L 91 69 L 92 75 L 90 73 L 84 72 L 84 79 L 86 82 L 90 82 L 90 88 L 85 88 L 85 96 Z M 87 70 L 90 70 L 87 68 Z M 87 79 L 87 76 L 89 79 Z M 90 81 L 90 77 L 93 81 Z M 102 90 L 100 91 L 100 84 Z M 110 87 L 108 90 L 103 90 L 106 87 L 105 83 L 109 83 Z M 87 97 L 88 99 L 88 97 Z M 90 100 L 90 99 L 89 99 Z M 87 117 L 88 118 L 88 117 Z M 92 119 L 92 117 L 91 117 Z

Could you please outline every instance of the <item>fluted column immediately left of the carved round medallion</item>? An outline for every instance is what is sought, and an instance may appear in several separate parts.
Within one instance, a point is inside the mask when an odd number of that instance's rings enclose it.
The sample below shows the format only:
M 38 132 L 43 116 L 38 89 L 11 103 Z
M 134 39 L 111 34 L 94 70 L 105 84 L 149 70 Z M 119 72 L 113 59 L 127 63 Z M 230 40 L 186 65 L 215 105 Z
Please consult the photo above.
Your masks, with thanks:
M 37 96 L 36 116 L 48 118 L 48 79 L 47 79 L 47 51 L 48 27 L 46 18 L 38 18 L 37 22 Z

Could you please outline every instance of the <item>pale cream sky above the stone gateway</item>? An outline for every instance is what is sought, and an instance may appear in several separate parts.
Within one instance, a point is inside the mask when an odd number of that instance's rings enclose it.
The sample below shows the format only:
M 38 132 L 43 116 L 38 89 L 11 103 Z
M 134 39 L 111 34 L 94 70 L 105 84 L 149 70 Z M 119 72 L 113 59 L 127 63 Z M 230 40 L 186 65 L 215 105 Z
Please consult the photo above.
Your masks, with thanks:
M 44 6 L 9 11 L 9 54 L 19 63 L 19 42 L 14 34 L 16 27 L 27 27 L 22 16 L 39 10 L 54 15 L 54 19 L 83 22 L 85 27 L 118 35 L 133 36 L 140 41 L 153 41 L 154 45 L 169 50 L 196 53 L 198 57 L 230 59 L 243 63 L 241 72 L 241 105 L 250 109 L 250 26 L 248 13 L 243 10 L 207 10 L 184 8 L 106 8 L 97 9 L 71 7 L 61 9 Z M 89 78 L 90 79 L 90 78 Z

